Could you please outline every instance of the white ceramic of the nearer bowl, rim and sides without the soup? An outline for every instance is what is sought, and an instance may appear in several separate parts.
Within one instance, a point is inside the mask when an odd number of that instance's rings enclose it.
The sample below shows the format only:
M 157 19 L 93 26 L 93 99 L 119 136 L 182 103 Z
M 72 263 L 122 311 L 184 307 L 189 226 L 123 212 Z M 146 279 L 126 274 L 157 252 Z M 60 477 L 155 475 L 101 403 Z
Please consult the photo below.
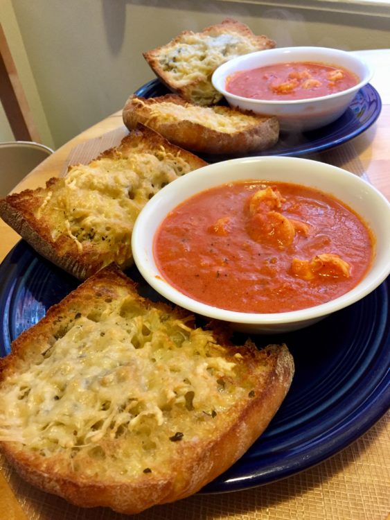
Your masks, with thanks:
M 274 180 L 314 187 L 354 209 L 372 229 L 375 258 L 364 279 L 348 293 L 324 304 L 283 313 L 241 313 L 218 309 L 183 295 L 159 272 L 153 256 L 154 234 L 169 211 L 190 196 L 230 181 Z M 208 318 L 252 333 L 301 329 L 371 293 L 390 272 L 390 203 L 357 175 L 321 162 L 296 157 L 246 157 L 204 166 L 171 182 L 143 208 L 132 234 L 132 250 L 141 275 L 171 302 Z M 185 274 L 184 274 L 185 276 Z

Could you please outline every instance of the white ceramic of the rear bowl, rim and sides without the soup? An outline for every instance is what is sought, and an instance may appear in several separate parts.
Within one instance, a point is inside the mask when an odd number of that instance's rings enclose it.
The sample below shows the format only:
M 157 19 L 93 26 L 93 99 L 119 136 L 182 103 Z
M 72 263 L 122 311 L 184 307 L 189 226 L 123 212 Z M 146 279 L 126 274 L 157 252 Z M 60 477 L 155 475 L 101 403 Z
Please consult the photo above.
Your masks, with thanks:
M 344 67 L 357 75 L 359 83 L 343 92 L 296 101 L 250 99 L 231 94 L 225 88 L 227 78 L 232 73 L 285 62 L 321 62 Z M 279 120 L 281 130 L 303 132 L 320 128 L 338 119 L 351 104 L 358 90 L 369 83 L 372 76 L 373 71 L 363 60 L 346 51 L 326 47 L 284 47 L 233 58 L 215 70 L 212 83 L 229 105 L 258 114 L 274 115 Z

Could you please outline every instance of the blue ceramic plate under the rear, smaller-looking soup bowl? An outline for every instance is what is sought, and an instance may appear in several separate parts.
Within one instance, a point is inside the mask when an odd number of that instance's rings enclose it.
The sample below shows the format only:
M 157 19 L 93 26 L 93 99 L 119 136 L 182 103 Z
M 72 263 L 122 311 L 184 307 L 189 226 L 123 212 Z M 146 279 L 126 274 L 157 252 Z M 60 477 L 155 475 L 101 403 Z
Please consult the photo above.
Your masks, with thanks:
M 152 80 L 139 88 L 135 94 L 144 98 L 154 98 L 168 94 L 169 91 L 159 80 Z M 334 123 L 311 132 L 281 132 L 273 148 L 251 155 L 308 155 L 339 146 L 367 130 L 382 110 L 380 95 L 366 85 L 357 92 L 354 100 L 344 114 Z M 229 156 L 231 157 L 231 156 Z M 227 156 L 202 155 L 207 162 L 227 159 Z

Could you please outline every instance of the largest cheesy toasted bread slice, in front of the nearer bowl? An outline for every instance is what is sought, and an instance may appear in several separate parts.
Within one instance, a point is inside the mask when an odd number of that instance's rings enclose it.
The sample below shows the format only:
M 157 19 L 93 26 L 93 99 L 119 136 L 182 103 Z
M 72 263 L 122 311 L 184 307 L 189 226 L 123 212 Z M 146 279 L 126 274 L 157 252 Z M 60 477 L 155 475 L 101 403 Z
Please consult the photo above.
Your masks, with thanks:
M 140 297 L 114 266 L 0 360 L 0 448 L 28 482 L 133 514 L 183 499 L 269 424 L 294 372 L 285 345 L 236 347 Z

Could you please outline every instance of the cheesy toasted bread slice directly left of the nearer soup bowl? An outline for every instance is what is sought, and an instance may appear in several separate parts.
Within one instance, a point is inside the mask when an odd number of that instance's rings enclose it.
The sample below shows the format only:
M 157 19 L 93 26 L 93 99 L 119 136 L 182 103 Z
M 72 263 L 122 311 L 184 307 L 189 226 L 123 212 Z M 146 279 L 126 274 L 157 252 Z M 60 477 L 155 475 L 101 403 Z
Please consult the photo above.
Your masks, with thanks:
M 89 164 L 71 166 L 45 188 L 0 200 L 0 216 L 57 266 L 85 279 L 103 266 L 132 263 L 132 229 L 161 187 L 205 166 L 149 128 L 132 130 Z

